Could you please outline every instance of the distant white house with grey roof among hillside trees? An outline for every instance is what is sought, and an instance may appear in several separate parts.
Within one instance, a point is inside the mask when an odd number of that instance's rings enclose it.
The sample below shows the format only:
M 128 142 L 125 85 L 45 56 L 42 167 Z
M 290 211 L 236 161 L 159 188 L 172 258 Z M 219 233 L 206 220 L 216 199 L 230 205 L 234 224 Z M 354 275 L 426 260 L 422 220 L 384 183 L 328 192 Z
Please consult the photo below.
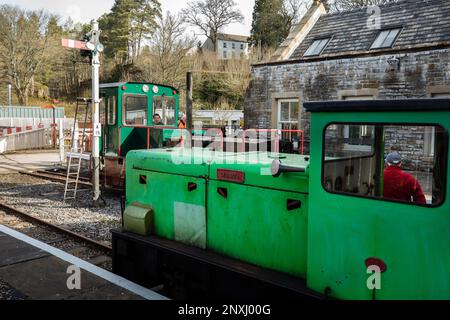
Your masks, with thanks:
M 234 34 L 217 34 L 217 57 L 219 59 L 248 58 L 249 46 L 247 36 Z M 214 45 L 210 39 L 206 40 L 202 46 L 204 50 L 214 51 Z

